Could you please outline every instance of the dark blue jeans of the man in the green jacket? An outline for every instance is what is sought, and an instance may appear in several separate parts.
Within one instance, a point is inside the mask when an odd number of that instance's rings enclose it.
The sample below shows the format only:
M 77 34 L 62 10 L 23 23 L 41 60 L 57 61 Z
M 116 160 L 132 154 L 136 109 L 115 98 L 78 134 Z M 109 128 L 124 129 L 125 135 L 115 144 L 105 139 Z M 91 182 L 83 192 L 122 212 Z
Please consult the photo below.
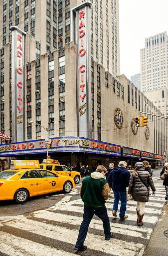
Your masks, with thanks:
M 103 228 L 104 228 L 105 236 L 111 236 L 110 221 L 109 221 L 109 217 L 107 215 L 106 206 L 92 207 L 92 206 L 84 205 L 83 221 L 80 225 L 76 246 L 83 245 L 83 242 L 86 239 L 90 221 L 92 220 L 94 214 L 96 216 L 98 216 L 103 221 Z

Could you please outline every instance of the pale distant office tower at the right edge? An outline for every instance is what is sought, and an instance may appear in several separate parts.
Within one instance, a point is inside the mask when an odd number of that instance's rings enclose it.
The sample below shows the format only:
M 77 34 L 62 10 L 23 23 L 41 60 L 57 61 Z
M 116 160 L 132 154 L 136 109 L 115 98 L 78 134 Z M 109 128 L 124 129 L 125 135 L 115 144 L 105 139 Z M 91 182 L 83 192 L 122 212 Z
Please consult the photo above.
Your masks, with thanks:
M 168 117 L 168 35 L 145 39 L 141 49 L 141 91 Z

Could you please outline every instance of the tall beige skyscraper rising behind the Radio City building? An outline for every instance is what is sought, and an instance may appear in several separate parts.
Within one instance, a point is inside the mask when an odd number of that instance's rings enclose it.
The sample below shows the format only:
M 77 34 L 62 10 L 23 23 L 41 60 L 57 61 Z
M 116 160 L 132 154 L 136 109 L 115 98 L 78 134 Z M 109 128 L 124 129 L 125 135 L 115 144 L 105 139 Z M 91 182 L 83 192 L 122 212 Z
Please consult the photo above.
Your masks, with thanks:
M 0 0 L 0 44 L 17 26 L 35 38 L 36 56 L 53 52 L 71 39 L 71 9 L 82 0 Z M 91 57 L 113 76 L 120 74 L 119 0 L 91 0 Z M 1 48 L 0 47 L 0 48 Z M 33 50 L 33 49 L 32 49 Z

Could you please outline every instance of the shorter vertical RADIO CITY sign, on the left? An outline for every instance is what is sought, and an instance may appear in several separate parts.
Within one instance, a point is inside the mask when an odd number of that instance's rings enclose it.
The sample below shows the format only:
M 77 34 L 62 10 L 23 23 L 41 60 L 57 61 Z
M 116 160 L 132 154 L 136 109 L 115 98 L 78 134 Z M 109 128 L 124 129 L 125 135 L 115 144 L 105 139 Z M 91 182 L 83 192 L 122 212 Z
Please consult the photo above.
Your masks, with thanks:
M 24 37 L 17 27 L 12 31 L 12 140 L 24 140 Z

